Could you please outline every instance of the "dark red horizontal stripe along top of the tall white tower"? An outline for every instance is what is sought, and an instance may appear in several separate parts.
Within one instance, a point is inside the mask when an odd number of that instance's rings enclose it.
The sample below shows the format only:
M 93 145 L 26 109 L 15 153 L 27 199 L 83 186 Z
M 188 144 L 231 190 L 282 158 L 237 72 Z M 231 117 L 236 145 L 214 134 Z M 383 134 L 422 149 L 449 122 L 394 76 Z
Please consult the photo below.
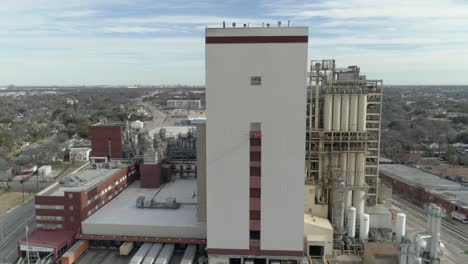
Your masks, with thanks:
M 206 44 L 307 43 L 307 36 L 206 37 Z

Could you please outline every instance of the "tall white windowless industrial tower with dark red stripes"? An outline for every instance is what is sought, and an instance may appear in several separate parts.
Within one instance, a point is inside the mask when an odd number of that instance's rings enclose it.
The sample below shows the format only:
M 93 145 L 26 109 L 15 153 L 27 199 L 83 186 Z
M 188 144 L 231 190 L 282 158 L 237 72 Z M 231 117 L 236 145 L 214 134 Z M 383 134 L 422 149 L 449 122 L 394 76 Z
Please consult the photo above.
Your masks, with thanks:
M 210 263 L 303 255 L 307 27 L 206 29 Z

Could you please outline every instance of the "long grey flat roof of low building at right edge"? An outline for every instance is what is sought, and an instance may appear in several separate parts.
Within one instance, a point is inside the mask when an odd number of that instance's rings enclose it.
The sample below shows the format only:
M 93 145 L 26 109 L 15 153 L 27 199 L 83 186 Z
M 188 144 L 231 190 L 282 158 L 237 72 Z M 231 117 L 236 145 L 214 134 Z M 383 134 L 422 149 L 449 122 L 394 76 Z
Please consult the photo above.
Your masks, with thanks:
M 401 164 L 380 164 L 380 172 L 411 186 L 422 187 L 447 201 L 468 207 L 468 189 L 459 183 Z

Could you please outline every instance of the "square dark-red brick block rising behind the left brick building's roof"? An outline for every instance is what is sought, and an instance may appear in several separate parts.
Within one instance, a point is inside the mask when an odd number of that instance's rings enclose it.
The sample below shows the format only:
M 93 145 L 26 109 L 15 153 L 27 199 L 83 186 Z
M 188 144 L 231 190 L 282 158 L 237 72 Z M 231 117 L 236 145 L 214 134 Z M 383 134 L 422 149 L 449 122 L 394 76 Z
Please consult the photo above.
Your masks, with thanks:
M 89 131 L 93 156 L 122 158 L 122 128 L 120 126 L 90 126 Z M 110 155 L 109 140 L 111 143 Z

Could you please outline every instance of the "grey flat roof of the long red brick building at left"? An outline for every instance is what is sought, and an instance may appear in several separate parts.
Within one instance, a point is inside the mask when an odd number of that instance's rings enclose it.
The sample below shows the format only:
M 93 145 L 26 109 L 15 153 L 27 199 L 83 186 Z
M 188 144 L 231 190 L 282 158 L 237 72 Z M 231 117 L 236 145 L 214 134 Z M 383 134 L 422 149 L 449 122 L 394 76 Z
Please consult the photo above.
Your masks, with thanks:
M 110 177 L 112 177 L 114 174 L 122 170 L 123 168 L 126 168 L 128 163 L 119 163 L 114 165 L 114 167 L 111 165 L 109 169 L 107 168 L 93 168 L 91 164 L 88 164 L 78 172 L 74 174 L 69 174 L 70 175 L 76 175 L 78 176 L 83 182 L 79 186 L 65 186 L 63 183 L 60 183 L 50 189 L 47 193 L 44 193 L 43 195 L 49 195 L 49 196 L 63 196 L 65 192 L 82 192 L 82 191 L 88 191 L 100 184 L 103 181 L 106 181 Z M 65 176 L 65 177 L 67 177 Z

